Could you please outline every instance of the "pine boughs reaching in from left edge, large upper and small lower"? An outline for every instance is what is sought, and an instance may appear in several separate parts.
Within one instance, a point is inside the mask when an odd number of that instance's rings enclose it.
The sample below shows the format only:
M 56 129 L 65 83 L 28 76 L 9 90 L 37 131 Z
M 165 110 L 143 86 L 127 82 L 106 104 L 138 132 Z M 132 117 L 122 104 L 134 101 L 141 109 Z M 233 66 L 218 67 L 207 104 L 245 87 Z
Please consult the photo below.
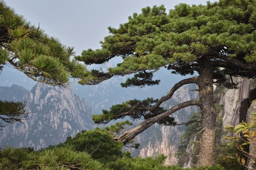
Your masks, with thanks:
M 5 65 L 22 71 L 29 78 L 50 85 L 65 85 L 69 77 L 90 77 L 84 65 L 74 56 L 74 48 L 66 47 L 44 31 L 27 22 L 23 16 L 0 0 L 0 73 Z M 26 102 L 0 101 L 0 119 L 7 123 L 26 118 Z M 2 123 L 0 127 L 3 127 Z

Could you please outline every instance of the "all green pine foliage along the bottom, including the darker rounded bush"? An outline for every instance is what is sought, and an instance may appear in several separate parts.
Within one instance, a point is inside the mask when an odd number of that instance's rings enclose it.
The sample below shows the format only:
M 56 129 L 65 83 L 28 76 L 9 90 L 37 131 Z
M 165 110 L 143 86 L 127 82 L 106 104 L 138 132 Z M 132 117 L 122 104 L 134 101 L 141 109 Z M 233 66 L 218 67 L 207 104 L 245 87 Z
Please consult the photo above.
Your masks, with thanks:
M 113 141 L 111 135 L 96 128 L 38 151 L 6 147 L 0 150 L 0 170 L 223 170 L 219 165 L 193 169 L 166 166 L 164 155 L 133 158 L 130 152 L 122 152 L 122 143 Z

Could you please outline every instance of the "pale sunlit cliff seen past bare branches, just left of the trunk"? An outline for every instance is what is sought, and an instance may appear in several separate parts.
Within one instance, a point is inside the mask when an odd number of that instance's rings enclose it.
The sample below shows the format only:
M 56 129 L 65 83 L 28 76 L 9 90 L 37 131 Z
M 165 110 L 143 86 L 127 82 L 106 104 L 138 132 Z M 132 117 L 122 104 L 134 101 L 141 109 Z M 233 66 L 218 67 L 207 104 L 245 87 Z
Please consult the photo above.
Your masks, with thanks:
M 197 91 L 190 91 L 196 89 L 197 86 L 185 85 L 179 88 L 171 99 L 164 102 L 162 107 L 169 109 L 178 103 L 185 102 L 198 98 Z M 187 122 L 191 113 L 198 111 L 198 107 L 191 106 L 184 108 L 172 114 L 178 123 Z M 137 122 L 139 123 L 139 122 Z M 155 124 L 145 130 L 143 133 L 135 138 L 135 142 L 141 144 L 138 150 L 130 150 L 133 156 L 157 156 L 158 154 L 165 154 L 167 157 L 166 164 L 177 164 L 177 157 L 175 153 L 179 145 L 180 136 L 184 133 L 185 126 L 161 126 Z

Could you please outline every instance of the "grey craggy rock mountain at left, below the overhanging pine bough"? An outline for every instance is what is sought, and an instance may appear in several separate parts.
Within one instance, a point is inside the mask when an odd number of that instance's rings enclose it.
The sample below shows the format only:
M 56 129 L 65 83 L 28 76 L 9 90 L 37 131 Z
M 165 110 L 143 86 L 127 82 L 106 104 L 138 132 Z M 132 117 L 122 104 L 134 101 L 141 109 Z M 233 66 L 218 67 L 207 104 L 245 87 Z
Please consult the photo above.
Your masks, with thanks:
M 28 120 L 0 131 L 0 147 L 34 147 L 36 150 L 64 142 L 81 130 L 93 128 L 90 105 L 71 88 L 38 83 L 31 91 L 17 85 L 0 87 L 0 99 L 27 101 Z

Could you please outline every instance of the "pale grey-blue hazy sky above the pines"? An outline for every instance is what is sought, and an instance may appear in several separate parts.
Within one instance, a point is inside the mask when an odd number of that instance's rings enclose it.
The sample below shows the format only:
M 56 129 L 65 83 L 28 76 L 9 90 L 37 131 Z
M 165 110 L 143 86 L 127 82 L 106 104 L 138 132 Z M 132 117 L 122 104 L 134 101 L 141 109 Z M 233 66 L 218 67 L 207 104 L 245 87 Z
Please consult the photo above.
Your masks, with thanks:
M 35 26 L 40 23 L 47 34 L 57 37 L 77 54 L 88 48 L 100 48 L 99 41 L 108 35 L 108 26 L 118 27 L 134 12 L 145 6 L 178 3 L 205 4 L 206 0 L 5 0 Z

